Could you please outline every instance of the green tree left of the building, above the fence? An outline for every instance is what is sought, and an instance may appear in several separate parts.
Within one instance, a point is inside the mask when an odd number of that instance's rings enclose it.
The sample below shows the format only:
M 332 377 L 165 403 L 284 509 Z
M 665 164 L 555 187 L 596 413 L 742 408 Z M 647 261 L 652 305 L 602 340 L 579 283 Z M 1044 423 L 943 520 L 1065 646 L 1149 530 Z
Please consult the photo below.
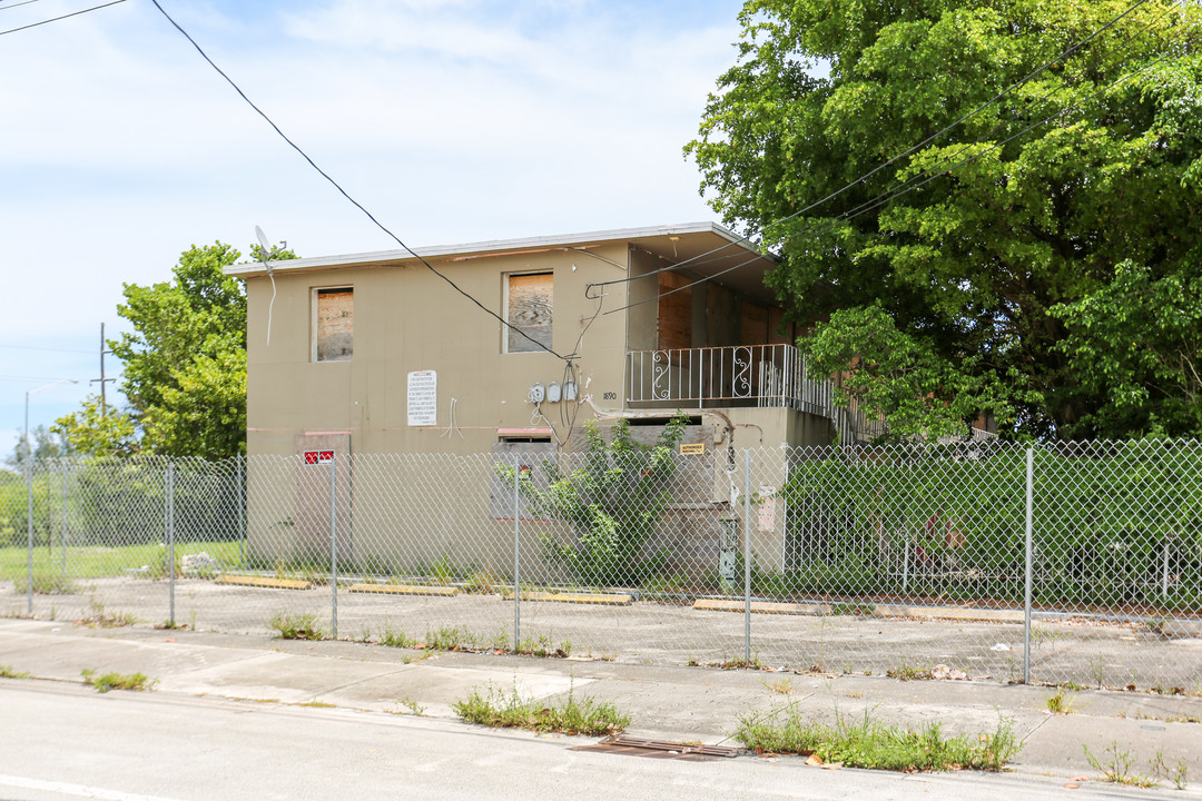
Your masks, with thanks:
M 254 246 L 257 256 L 257 245 Z M 118 313 L 133 333 L 111 340 L 124 363 L 126 410 L 101 414 L 95 397 L 55 422 L 77 450 L 136 450 L 222 459 L 245 452 L 246 294 L 222 268 L 242 256 L 231 245 L 192 245 L 172 280 L 126 283 Z M 278 251 L 274 259 L 296 258 Z

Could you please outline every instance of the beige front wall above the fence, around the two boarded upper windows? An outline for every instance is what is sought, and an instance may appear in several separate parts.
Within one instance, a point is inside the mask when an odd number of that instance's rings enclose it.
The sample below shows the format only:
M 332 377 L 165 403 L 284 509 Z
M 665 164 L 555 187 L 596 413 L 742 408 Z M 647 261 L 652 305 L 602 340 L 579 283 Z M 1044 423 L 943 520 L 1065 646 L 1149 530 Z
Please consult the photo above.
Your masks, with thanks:
M 621 243 L 590 252 L 626 263 Z M 605 393 L 621 396 L 624 316 L 594 317 L 597 303 L 584 297 L 588 282 L 621 277 L 621 269 L 563 250 L 432 263 L 502 316 L 505 275 L 553 271 L 552 347 L 571 353 L 584 331 L 578 348 L 582 394 L 588 385 L 599 399 Z M 249 453 L 291 454 L 297 435 L 331 430 L 350 431 L 356 453 L 483 453 L 499 429 L 546 428 L 531 423 L 526 393 L 535 382 L 563 383 L 563 363 L 549 353 L 505 353 L 502 325 L 421 264 L 281 271 L 275 282 L 268 345 L 270 281 L 246 281 Z M 355 289 L 353 358 L 314 363 L 313 291 L 338 286 Z M 606 289 L 606 307 L 625 304 L 625 285 Z M 407 425 L 407 375 L 415 370 L 438 372 L 438 425 Z M 457 426 L 447 437 L 452 397 Z M 558 424 L 557 405 L 542 408 Z M 579 410 L 582 416 L 588 411 Z

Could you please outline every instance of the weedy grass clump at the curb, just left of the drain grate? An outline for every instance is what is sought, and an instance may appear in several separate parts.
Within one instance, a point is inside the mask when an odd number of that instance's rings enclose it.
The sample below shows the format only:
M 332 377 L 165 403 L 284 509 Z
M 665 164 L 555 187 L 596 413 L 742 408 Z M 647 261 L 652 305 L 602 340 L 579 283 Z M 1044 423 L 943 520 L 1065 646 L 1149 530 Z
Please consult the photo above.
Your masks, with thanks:
M 617 734 L 630 725 L 630 716 L 613 704 L 590 697 L 577 701 L 572 692 L 561 705 L 525 701 L 517 689 L 510 694 L 490 689 L 487 694 L 474 689 L 468 698 L 452 705 L 454 713 L 468 723 L 494 728 L 529 729 L 601 736 Z

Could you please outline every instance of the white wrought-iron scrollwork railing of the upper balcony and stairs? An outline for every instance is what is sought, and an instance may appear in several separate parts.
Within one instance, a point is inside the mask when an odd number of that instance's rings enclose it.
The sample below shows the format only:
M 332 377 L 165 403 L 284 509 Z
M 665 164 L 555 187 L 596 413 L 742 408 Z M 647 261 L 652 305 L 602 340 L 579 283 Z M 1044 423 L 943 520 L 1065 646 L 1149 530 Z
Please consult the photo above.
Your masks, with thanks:
M 837 406 L 834 384 L 810 378 L 792 345 L 631 351 L 626 353 L 630 408 L 791 408 L 832 420 L 844 443 L 880 434 L 855 405 Z

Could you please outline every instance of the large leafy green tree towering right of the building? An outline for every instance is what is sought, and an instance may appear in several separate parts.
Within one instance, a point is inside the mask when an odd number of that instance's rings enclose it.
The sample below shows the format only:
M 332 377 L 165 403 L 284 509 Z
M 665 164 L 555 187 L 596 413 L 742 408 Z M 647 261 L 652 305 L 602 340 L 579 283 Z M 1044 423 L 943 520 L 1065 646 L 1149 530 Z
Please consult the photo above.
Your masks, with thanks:
M 1096 322 L 1133 297 L 1119 264 L 1146 298 L 1197 286 L 1197 4 L 749 0 L 740 20 L 686 151 L 784 255 L 769 282 L 820 321 L 821 369 L 906 430 L 980 410 L 1036 436 L 1202 432 L 1158 389 L 1188 370 L 1171 335 L 1152 364 L 1117 351 L 1139 318 Z

